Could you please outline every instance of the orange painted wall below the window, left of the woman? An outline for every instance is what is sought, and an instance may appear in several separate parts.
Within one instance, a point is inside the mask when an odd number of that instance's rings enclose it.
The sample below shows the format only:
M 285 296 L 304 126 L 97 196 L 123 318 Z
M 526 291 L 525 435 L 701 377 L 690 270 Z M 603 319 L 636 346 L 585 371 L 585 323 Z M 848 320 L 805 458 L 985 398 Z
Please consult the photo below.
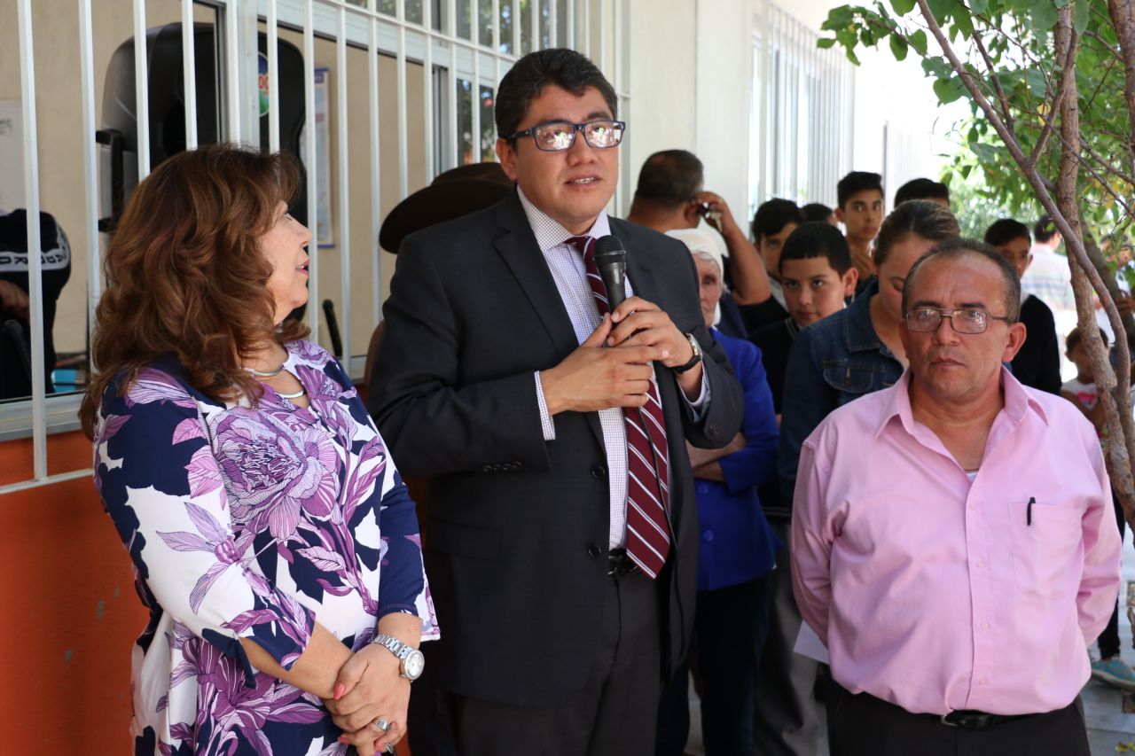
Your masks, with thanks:
M 28 478 L 31 459 L 28 440 L 0 443 L 0 484 Z M 48 460 L 52 473 L 89 467 L 91 443 L 51 436 Z M 2 753 L 133 753 L 131 649 L 146 613 L 94 484 L 5 494 L 0 519 Z M 405 740 L 398 753 L 410 756 Z

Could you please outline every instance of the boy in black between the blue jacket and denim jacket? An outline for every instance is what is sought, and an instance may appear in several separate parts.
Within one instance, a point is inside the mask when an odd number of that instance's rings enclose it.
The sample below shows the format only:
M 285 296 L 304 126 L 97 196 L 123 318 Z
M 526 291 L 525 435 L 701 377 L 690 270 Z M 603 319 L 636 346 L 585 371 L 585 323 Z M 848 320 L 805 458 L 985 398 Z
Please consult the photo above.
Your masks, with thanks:
M 844 297 L 855 292 L 858 272 L 851 266 L 843 234 L 830 224 L 813 221 L 801 225 L 784 242 L 777 276 L 789 317 L 757 330 L 751 341 L 760 348 L 779 421 L 784 369 L 796 335 L 805 326 L 842 310 Z M 783 546 L 776 553 L 776 570 L 772 573 L 773 598 L 757 681 L 754 742 L 758 754 L 815 754 L 819 730 L 812 690 L 817 662 L 793 650 L 801 619 L 792 596 L 788 546 L 792 511 L 782 502 L 776 482 L 759 486 L 757 493 Z

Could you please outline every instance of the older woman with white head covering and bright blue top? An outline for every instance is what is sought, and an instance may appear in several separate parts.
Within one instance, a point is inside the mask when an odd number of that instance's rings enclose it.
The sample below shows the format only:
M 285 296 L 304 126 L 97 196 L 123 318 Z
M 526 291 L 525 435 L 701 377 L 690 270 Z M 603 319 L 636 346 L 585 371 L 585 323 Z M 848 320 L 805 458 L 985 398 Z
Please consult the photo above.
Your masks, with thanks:
M 701 532 L 695 647 L 701 677 L 706 754 L 751 754 L 760 649 L 768 629 L 771 573 L 780 541 L 757 486 L 776 477 L 776 413 L 760 351 L 714 328 L 722 295 L 722 255 L 697 229 L 667 232 L 689 247 L 698 269 L 701 313 L 745 389 L 741 432 L 721 450 L 690 448 Z M 663 692 L 657 754 L 679 755 L 689 731 L 683 669 Z

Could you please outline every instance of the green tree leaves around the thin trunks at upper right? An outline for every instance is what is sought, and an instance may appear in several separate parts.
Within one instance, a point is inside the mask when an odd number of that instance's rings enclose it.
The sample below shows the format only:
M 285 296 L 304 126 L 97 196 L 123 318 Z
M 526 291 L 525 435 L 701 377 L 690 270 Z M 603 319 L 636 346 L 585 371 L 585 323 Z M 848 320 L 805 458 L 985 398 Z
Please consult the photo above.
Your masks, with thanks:
M 1077 185 L 1081 212 L 1086 233 L 1111 237 L 1109 246 L 1119 249 L 1132 241 L 1128 205 L 1135 201 L 1135 159 L 1124 66 L 1105 0 L 927 0 L 986 98 L 997 103 L 1003 95 L 1002 117 L 1026 154 L 1037 144 L 1065 67 L 1066 61 L 1057 60 L 1052 30 L 1059 9 L 1069 2 L 1079 35 L 1075 68 L 1084 145 Z M 984 232 L 981 225 L 990 217 L 1010 215 L 1031 222 L 1041 213 L 1024 174 L 928 35 L 915 0 L 841 6 L 829 14 L 823 28 L 831 36 L 821 39 L 819 47 L 838 44 L 855 64 L 861 47 L 885 44 L 897 60 L 917 54 L 940 102 L 969 101 L 972 116 L 956 126 L 960 145 L 943 177 L 955 207 L 966 208 L 961 215 L 968 217 L 959 220 L 967 233 L 980 236 L 978 228 Z M 1036 159 L 1049 180 L 1056 180 L 1061 149 L 1057 126 Z

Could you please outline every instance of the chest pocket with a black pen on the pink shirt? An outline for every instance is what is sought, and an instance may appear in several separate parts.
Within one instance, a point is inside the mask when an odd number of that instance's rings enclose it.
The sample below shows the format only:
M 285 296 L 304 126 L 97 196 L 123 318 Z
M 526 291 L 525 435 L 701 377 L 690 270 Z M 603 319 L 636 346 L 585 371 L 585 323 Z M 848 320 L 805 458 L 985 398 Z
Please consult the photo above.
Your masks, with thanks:
M 1028 598 L 1071 599 L 1079 586 L 1083 512 L 1040 502 L 1029 507 L 1027 499 L 1007 506 L 1017 588 Z

